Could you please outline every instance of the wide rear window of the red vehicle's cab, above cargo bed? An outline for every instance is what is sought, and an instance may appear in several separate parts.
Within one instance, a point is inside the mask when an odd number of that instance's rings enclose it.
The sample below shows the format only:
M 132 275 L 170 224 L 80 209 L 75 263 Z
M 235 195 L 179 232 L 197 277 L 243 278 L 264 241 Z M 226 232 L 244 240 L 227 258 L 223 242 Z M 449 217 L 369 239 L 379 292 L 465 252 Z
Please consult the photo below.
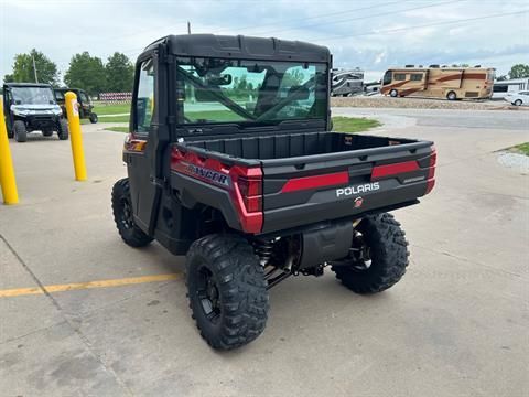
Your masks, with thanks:
M 324 119 L 325 64 L 179 58 L 184 124 Z

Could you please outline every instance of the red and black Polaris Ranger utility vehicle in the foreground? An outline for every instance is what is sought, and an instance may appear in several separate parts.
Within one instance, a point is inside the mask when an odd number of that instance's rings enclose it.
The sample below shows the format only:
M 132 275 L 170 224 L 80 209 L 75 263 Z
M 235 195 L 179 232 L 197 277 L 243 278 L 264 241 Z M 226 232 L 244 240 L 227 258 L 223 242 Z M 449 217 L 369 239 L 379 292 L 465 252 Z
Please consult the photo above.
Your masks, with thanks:
M 215 348 L 255 340 L 268 289 L 291 275 L 328 267 L 368 294 L 406 271 L 388 211 L 432 190 L 433 143 L 330 131 L 331 67 L 323 46 L 209 34 L 138 58 L 116 225 L 132 247 L 186 255 L 193 318 Z

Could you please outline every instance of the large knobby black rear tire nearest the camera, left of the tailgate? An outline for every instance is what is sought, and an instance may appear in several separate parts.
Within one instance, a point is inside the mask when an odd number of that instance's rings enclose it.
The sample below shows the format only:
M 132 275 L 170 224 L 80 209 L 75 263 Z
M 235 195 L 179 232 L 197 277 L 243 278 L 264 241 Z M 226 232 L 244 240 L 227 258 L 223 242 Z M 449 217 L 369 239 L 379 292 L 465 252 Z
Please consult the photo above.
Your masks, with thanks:
M 261 334 L 269 308 L 267 282 L 245 238 L 209 235 L 196 240 L 185 269 L 192 316 L 212 347 L 240 347 Z

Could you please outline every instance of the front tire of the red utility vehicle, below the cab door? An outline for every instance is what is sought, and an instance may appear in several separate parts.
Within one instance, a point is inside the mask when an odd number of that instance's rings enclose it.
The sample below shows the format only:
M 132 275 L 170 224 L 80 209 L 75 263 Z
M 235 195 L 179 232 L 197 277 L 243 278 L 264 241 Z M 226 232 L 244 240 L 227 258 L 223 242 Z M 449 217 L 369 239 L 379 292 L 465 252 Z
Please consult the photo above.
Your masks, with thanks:
M 134 224 L 128 178 L 123 178 L 114 184 L 112 212 L 118 233 L 126 244 L 139 248 L 152 242 L 152 238 Z

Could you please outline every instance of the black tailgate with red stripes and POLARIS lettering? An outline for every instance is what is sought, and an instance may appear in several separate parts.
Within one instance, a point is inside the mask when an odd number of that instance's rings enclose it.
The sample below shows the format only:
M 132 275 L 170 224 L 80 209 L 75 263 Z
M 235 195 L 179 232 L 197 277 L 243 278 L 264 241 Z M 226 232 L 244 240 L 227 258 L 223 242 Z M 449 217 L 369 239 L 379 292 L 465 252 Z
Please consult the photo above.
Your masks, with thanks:
M 262 233 L 413 203 L 434 183 L 433 142 L 262 160 Z

